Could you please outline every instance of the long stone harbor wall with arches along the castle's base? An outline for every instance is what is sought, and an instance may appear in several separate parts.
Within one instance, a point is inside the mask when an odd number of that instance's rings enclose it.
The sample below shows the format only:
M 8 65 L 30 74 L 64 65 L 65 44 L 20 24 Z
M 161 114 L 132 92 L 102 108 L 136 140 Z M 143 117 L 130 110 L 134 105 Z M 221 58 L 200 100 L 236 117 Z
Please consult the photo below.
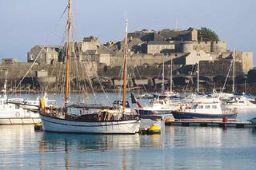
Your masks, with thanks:
M 148 57 L 148 56 L 146 56 Z M 150 56 L 151 57 L 151 56 Z M 166 60 L 163 65 L 161 61 L 154 65 L 130 65 L 128 67 L 128 77 L 130 87 L 146 88 L 148 90 L 159 90 L 162 84 L 162 71 L 164 70 L 166 89 L 170 87 L 170 70 L 171 65 L 166 56 L 160 56 L 162 61 Z M 135 57 L 134 57 L 135 58 Z M 160 60 L 161 60 L 160 59 Z M 135 58 L 134 60 L 139 59 Z M 119 62 L 119 61 L 118 61 Z M 152 61 L 153 62 L 153 61 Z M 137 63 L 137 64 L 138 64 Z M 212 90 L 222 89 L 226 81 L 226 90 L 230 90 L 233 83 L 233 67 L 230 68 L 230 60 L 222 61 L 200 61 L 200 88 Z M 64 85 L 64 69 L 62 63 L 54 65 L 34 65 L 30 63 L 18 63 L 13 65 L 0 65 L 0 89 L 2 89 L 5 80 L 5 70 L 8 70 L 7 88 L 15 89 L 22 77 L 26 75 L 18 90 L 48 90 L 58 91 Z M 243 72 L 242 62 L 235 62 L 235 83 L 237 89 L 247 90 L 255 93 L 256 82 L 254 71 L 248 75 Z M 230 69 L 230 74 L 226 78 Z M 122 86 L 122 67 L 113 65 L 97 65 L 96 62 L 90 64 L 75 62 L 71 65 L 71 89 L 79 90 L 81 85 L 92 86 L 94 89 L 116 89 Z M 197 65 L 173 65 L 173 85 L 174 90 L 194 91 L 197 88 Z M 75 76 L 76 75 L 76 76 Z M 246 84 L 246 87 L 245 87 Z M 90 91 L 90 89 L 89 89 Z

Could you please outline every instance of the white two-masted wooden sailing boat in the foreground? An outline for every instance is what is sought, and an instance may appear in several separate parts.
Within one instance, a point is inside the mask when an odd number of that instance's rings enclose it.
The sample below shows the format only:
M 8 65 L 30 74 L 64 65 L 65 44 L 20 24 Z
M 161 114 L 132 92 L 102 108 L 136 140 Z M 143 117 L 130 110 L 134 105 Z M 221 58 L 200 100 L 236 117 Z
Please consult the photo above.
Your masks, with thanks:
M 67 47 L 66 47 L 66 82 L 65 105 L 60 108 L 46 107 L 43 98 L 40 99 L 39 113 L 42 128 L 50 132 L 86 132 L 86 133 L 129 133 L 138 132 L 140 120 L 138 117 L 126 114 L 126 62 L 128 53 L 127 21 L 123 62 L 123 99 L 122 112 L 110 113 L 110 107 L 102 105 L 86 105 L 69 103 L 70 93 L 70 29 L 71 0 L 68 1 Z M 96 109 L 96 110 L 95 110 Z M 97 109 L 100 109 L 99 111 Z M 90 113 L 90 110 L 94 110 Z

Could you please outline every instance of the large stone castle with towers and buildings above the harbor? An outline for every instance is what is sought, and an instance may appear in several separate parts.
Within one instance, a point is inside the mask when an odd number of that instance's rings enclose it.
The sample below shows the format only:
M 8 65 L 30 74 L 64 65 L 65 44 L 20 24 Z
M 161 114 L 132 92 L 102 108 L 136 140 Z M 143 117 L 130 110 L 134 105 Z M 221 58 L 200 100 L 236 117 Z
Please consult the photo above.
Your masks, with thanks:
M 128 65 L 140 72 L 139 75 L 138 73 L 130 75 L 134 86 L 148 85 L 149 79 L 156 85 L 157 79 L 161 78 L 163 64 L 166 67 L 165 76 L 170 75 L 171 62 L 173 81 L 176 85 L 188 81 L 195 82 L 198 63 L 200 79 L 206 84 L 223 84 L 233 58 L 235 58 L 237 78 L 241 79 L 237 82 L 243 82 L 246 74 L 254 66 L 252 52 L 236 50 L 234 54 L 234 51 L 227 49 L 226 42 L 202 42 L 201 35 L 194 28 L 141 30 L 129 33 L 128 38 L 130 53 Z M 71 57 L 73 61 L 86 62 L 86 65 L 90 65 L 91 77 L 109 79 L 112 86 L 115 86 L 119 84 L 123 44 L 124 41 L 101 44 L 98 38 L 90 36 L 80 42 L 73 42 Z M 66 45 L 35 45 L 28 52 L 27 61 L 32 62 L 37 58 L 39 65 L 61 65 L 65 62 L 65 49 Z

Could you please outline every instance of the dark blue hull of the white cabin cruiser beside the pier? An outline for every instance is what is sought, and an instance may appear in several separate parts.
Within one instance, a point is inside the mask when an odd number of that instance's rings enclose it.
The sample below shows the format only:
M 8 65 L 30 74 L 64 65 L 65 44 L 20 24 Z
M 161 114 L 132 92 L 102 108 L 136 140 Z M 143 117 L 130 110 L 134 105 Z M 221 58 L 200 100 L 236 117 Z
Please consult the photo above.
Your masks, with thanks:
M 172 114 L 175 119 L 222 119 L 223 117 L 236 119 L 238 113 L 206 114 L 206 113 L 184 113 L 179 111 L 173 111 Z

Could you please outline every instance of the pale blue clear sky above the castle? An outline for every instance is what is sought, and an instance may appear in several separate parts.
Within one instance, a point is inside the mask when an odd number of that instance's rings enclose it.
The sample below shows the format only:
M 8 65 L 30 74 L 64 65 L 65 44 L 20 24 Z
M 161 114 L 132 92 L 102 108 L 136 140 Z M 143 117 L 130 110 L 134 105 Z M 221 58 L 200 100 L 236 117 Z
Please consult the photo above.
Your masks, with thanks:
M 64 44 L 66 14 L 62 13 L 67 0 L 0 2 L 0 59 L 26 61 L 34 45 Z M 74 41 L 90 35 L 102 43 L 120 41 L 127 16 L 129 32 L 205 26 L 227 42 L 228 49 L 256 54 L 255 0 L 74 0 L 72 5 Z

